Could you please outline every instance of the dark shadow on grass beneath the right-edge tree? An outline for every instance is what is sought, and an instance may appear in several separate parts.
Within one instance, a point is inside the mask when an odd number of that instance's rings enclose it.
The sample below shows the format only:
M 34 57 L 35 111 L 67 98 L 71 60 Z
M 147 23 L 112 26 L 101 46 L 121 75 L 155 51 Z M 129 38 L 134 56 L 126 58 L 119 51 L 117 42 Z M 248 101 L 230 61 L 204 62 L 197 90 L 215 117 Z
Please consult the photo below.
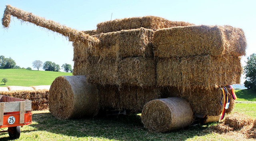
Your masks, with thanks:
M 256 101 L 256 92 L 251 89 L 238 90 L 236 91 L 236 96 L 248 101 Z

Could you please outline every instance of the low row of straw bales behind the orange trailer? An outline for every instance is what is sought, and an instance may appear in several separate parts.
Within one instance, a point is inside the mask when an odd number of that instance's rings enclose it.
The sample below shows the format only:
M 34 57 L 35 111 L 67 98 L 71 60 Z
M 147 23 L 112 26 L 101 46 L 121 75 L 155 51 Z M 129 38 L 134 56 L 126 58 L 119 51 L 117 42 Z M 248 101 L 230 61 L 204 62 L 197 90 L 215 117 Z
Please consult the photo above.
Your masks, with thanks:
M 49 90 L 14 90 L 0 91 L 0 95 L 11 96 L 32 101 L 32 110 L 48 109 L 48 94 Z

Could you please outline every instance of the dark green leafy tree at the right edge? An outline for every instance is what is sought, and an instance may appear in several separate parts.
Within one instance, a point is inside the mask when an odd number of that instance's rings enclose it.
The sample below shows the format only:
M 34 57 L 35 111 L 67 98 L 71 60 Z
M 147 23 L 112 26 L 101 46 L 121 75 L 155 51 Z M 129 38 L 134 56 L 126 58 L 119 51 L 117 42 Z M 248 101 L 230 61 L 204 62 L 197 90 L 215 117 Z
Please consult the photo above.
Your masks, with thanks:
M 245 82 L 244 86 L 246 88 L 251 88 L 256 91 L 256 54 L 253 53 L 247 57 L 246 66 L 244 67 Z

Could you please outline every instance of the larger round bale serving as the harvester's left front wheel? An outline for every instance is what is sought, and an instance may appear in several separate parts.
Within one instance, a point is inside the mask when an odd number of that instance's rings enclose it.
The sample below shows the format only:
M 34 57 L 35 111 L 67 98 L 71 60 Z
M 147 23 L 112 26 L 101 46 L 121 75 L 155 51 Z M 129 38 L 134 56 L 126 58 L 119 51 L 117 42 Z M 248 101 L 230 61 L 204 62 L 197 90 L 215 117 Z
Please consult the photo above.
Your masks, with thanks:
M 49 90 L 49 110 L 59 119 L 84 118 L 98 112 L 96 86 L 85 76 L 59 76 Z

